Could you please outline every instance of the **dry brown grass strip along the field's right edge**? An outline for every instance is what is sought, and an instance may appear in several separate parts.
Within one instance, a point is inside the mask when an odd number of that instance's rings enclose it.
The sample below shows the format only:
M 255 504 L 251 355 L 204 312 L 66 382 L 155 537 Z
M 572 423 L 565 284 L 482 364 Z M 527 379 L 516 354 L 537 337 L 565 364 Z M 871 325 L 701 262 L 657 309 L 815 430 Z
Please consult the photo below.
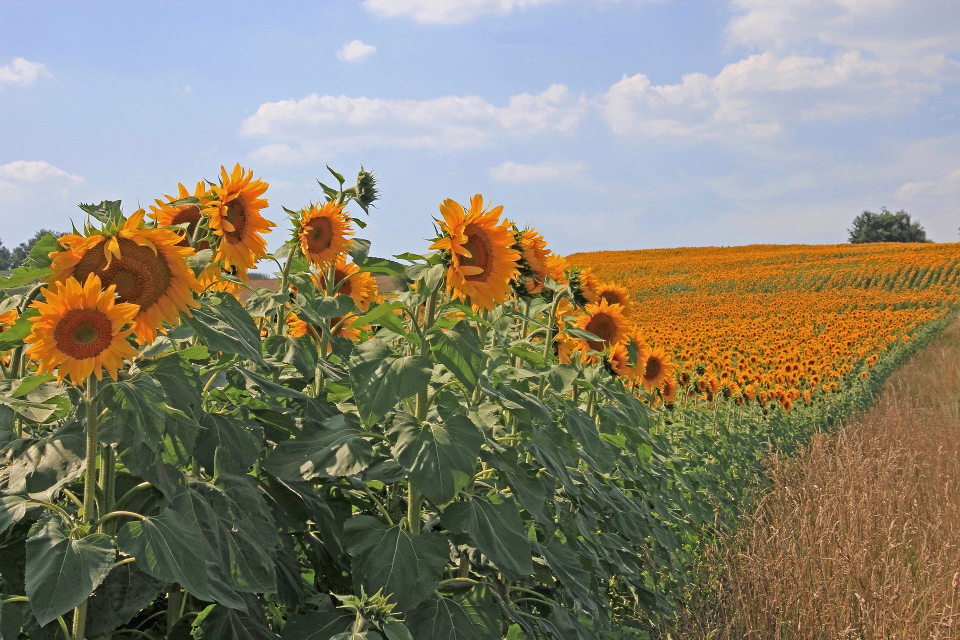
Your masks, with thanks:
M 960 323 L 769 473 L 686 637 L 960 638 Z

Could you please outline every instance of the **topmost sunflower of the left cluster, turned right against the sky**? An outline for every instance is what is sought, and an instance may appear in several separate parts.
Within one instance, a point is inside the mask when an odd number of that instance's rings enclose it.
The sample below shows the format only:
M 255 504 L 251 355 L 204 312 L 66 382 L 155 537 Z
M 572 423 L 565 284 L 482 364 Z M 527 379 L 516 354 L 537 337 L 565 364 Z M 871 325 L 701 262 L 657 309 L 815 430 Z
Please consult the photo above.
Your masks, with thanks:
M 227 268 L 250 269 L 267 254 L 267 241 L 262 233 L 270 233 L 275 226 L 260 215 L 267 208 L 262 196 L 267 183 L 253 179 L 253 172 L 244 172 L 238 164 L 231 174 L 220 167 L 220 185 L 210 188 L 212 200 L 203 213 L 209 216 L 210 230 L 220 240 L 213 255 L 216 262 Z

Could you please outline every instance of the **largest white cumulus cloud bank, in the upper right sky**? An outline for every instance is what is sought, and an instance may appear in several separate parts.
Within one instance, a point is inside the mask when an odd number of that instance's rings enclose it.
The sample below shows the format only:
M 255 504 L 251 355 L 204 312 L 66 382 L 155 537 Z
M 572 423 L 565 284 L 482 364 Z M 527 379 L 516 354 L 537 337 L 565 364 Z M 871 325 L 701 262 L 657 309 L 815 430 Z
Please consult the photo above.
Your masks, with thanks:
M 728 37 L 761 52 L 675 84 L 625 75 L 599 106 L 614 132 L 678 138 L 765 137 L 904 112 L 960 83 L 960 12 L 944 4 L 735 0 Z M 914 16 L 920 5 L 943 19 Z

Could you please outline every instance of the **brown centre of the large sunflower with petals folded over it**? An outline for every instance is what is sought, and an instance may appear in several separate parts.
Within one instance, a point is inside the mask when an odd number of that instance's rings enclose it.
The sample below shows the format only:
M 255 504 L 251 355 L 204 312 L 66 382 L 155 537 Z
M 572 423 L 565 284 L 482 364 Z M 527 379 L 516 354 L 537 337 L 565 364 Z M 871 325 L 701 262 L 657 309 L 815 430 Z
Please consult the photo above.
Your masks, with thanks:
M 146 311 L 167 294 L 173 279 L 170 267 L 162 254 L 155 254 L 149 247 L 141 247 L 127 238 L 120 238 L 118 244 L 120 257 L 114 256 L 109 267 L 104 245 L 100 243 L 84 253 L 73 275 L 85 282 L 87 275 L 95 273 L 104 287 L 116 285 L 121 302 L 139 304 L 140 309 Z

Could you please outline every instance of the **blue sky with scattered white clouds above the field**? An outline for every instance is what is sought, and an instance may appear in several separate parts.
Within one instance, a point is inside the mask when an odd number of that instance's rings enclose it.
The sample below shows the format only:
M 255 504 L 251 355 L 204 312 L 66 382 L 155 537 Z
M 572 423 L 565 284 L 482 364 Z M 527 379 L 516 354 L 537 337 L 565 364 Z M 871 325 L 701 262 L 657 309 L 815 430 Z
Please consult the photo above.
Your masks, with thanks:
M 278 223 L 372 168 L 381 255 L 477 192 L 564 253 L 955 242 L 958 114 L 955 0 L 0 0 L 0 238 L 240 162 Z

